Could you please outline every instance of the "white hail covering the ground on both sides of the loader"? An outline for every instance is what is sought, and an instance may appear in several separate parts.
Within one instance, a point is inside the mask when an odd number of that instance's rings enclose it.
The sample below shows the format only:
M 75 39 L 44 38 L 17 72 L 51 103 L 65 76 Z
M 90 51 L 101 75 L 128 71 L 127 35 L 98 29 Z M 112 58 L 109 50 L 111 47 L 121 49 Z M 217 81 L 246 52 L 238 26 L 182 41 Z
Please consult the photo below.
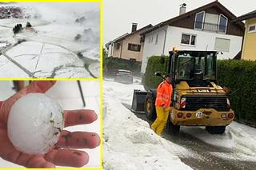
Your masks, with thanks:
M 103 81 L 103 168 L 105 169 L 190 169 L 178 156 L 206 158 L 193 149 L 157 136 L 150 125 L 124 105 L 131 105 L 137 83 L 124 85 L 111 79 Z M 223 135 L 210 135 L 204 127 L 182 127 L 182 132 L 213 147 L 232 152 L 209 152 L 224 160 L 256 161 L 256 131 L 232 122 Z M 222 149 L 220 149 L 222 150 Z M 211 164 L 211 163 L 207 163 Z M 214 164 L 214 163 L 213 163 Z M 232 164 L 232 163 L 231 163 Z

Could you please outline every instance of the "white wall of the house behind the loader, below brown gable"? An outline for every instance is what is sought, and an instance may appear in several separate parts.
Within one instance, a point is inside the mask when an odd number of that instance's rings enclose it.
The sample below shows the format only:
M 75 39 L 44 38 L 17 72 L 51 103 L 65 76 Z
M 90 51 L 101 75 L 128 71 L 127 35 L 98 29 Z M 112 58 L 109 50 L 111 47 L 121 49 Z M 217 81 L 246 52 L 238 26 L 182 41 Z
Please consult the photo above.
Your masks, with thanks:
M 146 64 L 148 57 L 153 55 L 162 55 L 162 48 L 164 42 L 164 29 L 167 28 L 166 34 L 166 45 L 164 54 L 168 55 L 169 51 L 175 46 L 178 50 L 215 50 L 215 38 L 224 38 L 230 39 L 230 50 L 229 52 L 222 52 L 223 54 L 218 54 L 218 59 L 229 59 L 235 57 L 238 52 L 241 50 L 242 46 L 242 37 L 229 35 L 229 34 L 217 34 L 212 32 L 200 31 L 200 30 L 191 30 L 175 26 L 162 27 L 158 30 L 150 32 L 145 36 L 145 44 L 143 51 L 142 59 L 142 73 L 146 71 Z M 194 34 L 196 35 L 195 45 L 183 45 L 181 44 L 182 33 L 184 34 Z M 149 43 L 149 38 L 156 38 L 158 34 L 158 44 Z M 153 41 L 154 42 L 154 41 Z

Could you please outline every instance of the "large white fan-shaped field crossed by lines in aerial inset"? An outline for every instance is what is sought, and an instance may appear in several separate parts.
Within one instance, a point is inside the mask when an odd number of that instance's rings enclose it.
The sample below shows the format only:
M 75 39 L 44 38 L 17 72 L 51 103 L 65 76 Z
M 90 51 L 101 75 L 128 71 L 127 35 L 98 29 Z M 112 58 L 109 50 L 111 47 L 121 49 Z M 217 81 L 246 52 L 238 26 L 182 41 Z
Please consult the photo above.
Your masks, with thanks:
M 64 69 L 68 68 L 69 71 L 66 74 L 62 72 L 60 77 L 91 77 L 90 73 L 83 67 L 84 63 L 81 59 L 68 49 L 63 49 L 58 45 L 41 42 L 22 42 L 9 49 L 6 55 L 31 73 L 35 73 L 35 77 L 50 77 L 54 69 L 62 65 Z M 62 68 L 57 70 L 60 69 Z

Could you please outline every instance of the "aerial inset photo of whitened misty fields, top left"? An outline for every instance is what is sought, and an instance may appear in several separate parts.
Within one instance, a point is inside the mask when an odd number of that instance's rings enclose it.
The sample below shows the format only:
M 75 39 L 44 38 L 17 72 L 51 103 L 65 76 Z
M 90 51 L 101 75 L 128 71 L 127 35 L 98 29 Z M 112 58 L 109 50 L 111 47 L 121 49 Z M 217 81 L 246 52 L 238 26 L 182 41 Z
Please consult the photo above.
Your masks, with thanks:
M 99 2 L 0 3 L 0 78 L 100 77 Z

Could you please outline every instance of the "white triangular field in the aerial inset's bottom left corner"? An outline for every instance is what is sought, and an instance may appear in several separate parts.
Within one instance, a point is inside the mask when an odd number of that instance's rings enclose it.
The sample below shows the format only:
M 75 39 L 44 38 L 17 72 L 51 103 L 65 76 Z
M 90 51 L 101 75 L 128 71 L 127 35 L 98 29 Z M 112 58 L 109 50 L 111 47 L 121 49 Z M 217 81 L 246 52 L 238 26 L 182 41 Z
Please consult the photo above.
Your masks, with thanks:
M 29 76 L 14 65 L 6 57 L 0 55 L 0 77 L 1 78 L 29 78 Z

